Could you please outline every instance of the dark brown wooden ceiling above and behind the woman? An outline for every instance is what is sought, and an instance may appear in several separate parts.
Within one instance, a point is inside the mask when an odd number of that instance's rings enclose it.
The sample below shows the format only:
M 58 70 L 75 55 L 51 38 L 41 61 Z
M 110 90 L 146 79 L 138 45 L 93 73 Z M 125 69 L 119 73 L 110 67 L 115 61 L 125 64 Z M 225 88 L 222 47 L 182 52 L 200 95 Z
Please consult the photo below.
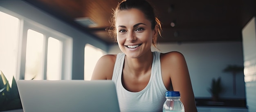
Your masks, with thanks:
M 120 0 L 25 0 L 43 11 L 113 44 L 105 31 L 112 8 Z M 256 0 L 148 0 L 162 22 L 166 42 L 242 41 L 241 31 L 256 15 Z M 76 18 L 90 18 L 95 27 L 84 27 Z M 171 27 L 175 22 L 175 27 Z

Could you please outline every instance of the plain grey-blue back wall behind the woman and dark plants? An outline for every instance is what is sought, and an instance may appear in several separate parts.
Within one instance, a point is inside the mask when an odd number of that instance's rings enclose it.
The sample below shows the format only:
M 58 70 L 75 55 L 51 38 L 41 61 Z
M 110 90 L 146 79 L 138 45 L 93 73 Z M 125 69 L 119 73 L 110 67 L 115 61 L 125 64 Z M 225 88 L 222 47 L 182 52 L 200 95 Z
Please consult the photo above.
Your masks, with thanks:
M 245 82 L 243 73 L 236 75 L 236 90 L 233 94 L 232 74 L 222 72 L 227 65 L 243 65 L 242 42 L 204 42 L 204 43 L 164 43 L 157 46 L 161 52 L 178 51 L 185 58 L 191 76 L 195 97 L 211 97 L 208 88 L 212 78 L 222 78 L 225 92 L 222 98 L 245 99 Z M 155 49 L 153 49 L 155 51 Z M 110 47 L 108 54 L 121 52 L 118 45 Z

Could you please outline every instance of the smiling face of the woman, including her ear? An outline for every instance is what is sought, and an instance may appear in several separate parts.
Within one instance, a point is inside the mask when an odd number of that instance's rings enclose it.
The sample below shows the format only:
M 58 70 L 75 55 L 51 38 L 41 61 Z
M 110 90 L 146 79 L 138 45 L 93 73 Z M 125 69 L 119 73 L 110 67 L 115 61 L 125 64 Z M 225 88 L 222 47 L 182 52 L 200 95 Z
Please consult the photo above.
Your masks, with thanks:
M 156 31 L 138 9 L 119 11 L 116 16 L 117 43 L 126 56 L 138 58 L 151 52 L 151 44 Z

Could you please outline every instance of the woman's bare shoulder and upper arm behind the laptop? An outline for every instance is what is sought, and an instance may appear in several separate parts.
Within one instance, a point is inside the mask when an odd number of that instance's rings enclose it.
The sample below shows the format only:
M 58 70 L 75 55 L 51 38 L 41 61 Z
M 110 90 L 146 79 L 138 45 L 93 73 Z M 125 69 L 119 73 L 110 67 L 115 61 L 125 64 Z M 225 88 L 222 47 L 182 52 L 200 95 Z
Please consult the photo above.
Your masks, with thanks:
M 116 55 L 105 55 L 96 63 L 91 80 L 111 80 Z

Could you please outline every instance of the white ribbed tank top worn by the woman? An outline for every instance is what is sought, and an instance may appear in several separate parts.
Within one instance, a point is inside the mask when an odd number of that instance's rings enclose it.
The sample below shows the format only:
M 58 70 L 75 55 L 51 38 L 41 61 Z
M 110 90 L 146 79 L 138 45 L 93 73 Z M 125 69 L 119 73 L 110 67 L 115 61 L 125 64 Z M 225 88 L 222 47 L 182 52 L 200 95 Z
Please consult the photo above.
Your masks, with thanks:
M 117 88 L 117 97 L 121 112 L 162 112 L 167 91 L 162 80 L 160 53 L 153 52 L 153 63 L 148 85 L 140 92 L 126 90 L 121 81 L 124 53 L 117 54 L 112 81 Z

